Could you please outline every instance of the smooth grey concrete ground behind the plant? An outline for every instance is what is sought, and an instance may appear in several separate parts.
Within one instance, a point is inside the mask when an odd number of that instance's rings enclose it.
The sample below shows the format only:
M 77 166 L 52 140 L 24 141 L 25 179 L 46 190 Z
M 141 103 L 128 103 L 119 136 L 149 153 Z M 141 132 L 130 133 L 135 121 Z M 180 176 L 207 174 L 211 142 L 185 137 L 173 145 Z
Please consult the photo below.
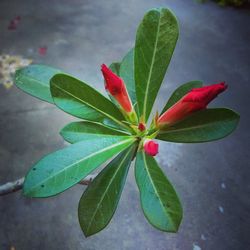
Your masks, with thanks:
M 0 197 L 0 249 L 16 250 L 245 250 L 250 245 L 250 9 L 191 0 L 0 1 L 0 54 L 22 55 L 61 68 L 104 91 L 100 65 L 120 60 L 152 7 L 171 8 L 180 38 L 157 105 L 181 83 L 225 80 L 212 106 L 241 114 L 238 129 L 205 144 L 161 143 L 158 160 L 178 191 L 184 219 L 177 234 L 144 219 L 133 171 L 109 226 L 89 238 L 77 220 L 77 185 L 48 199 L 20 192 Z M 16 30 L 9 20 L 21 16 Z M 38 48 L 47 46 L 46 55 Z M 65 147 L 58 131 L 74 118 L 0 85 L 0 183 L 23 176 L 42 156 Z

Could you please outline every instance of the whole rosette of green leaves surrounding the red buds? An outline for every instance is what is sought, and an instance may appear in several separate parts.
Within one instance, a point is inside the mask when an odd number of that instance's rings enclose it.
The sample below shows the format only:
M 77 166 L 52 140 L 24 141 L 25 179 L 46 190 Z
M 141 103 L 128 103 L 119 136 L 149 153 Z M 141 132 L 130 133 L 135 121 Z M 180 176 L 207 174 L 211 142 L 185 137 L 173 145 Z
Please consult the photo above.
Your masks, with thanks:
M 152 9 L 138 27 L 134 48 L 121 62 L 110 65 L 124 80 L 138 120 L 143 117 L 145 123 L 170 63 L 178 33 L 178 22 L 170 10 Z M 70 146 L 45 156 L 27 173 L 25 196 L 57 195 L 106 164 L 83 193 L 78 207 L 82 231 L 85 236 L 93 235 L 110 222 L 135 159 L 136 182 L 145 217 L 160 230 L 177 232 L 182 220 L 177 193 L 154 157 L 140 146 L 145 138 L 154 138 L 155 131 L 147 129 L 142 133 L 135 129 L 138 124 L 126 120 L 112 97 L 103 96 L 84 81 L 58 69 L 30 65 L 16 72 L 15 82 L 28 94 L 82 119 L 60 131 Z M 163 110 L 201 85 L 200 81 L 181 85 Z M 198 111 L 156 139 L 196 143 L 217 140 L 230 134 L 238 120 L 239 115 L 226 108 Z

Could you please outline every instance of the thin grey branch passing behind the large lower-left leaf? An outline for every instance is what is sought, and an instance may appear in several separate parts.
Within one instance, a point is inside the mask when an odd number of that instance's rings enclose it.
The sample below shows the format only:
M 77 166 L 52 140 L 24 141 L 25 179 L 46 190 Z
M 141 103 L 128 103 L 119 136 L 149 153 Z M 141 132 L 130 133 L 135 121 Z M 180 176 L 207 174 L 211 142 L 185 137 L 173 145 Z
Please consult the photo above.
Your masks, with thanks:
M 89 183 L 96 177 L 96 175 L 88 175 L 86 178 L 82 179 L 81 181 L 78 182 L 80 185 L 89 185 Z M 23 183 L 24 183 L 24 177 L 12 181 L 12 182 L 7 182 L 3 185 L 0 185 L 0 196 L 6 195 L 6 194 L 11 194 L 14 192 L 17 192 L 23 188 Z

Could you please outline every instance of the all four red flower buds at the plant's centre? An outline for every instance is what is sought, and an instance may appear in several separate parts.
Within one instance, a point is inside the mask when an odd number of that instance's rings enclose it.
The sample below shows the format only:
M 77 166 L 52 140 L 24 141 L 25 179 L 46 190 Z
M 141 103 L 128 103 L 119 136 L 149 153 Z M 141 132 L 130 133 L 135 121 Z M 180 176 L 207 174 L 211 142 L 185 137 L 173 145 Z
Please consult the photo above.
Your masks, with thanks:
M 134 119 L 136 112 L 122 78 L 112 72 L 105 64 L 101 66 L 101 70 L 105 79 L 106 90 L 116 100 L 125 116 L 132 122 L 137 121 L 137 117 Z M 224 82 L 192 89 L 177 103 L 167 109 L 160 117 L 156 117 L 155 129 L 165 129 L 187 118 L 194 112 L 206 109 L 207 105 L 226 89 L 227 85 Z M 139 132 L 146 131 L 146 125 L 144 123 L 140 122 L 137 126 Z M 142 148 L 147 154 L 155 156 L 158 154 L 159 144 L 146 137 L 143 141 Z

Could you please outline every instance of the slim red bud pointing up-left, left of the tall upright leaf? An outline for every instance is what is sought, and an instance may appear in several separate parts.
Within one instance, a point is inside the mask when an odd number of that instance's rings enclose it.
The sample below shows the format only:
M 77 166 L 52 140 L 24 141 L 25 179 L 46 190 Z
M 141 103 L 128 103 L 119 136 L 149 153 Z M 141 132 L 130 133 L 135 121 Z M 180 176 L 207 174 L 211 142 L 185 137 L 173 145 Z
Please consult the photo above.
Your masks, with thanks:
M 130 113 L 133 106 L 123 80 L 113 73 L 105 64 L 102 64 L 101 70 L 105 79 L 105 88 L 116 99 L 121 107 L 127 113 Z

